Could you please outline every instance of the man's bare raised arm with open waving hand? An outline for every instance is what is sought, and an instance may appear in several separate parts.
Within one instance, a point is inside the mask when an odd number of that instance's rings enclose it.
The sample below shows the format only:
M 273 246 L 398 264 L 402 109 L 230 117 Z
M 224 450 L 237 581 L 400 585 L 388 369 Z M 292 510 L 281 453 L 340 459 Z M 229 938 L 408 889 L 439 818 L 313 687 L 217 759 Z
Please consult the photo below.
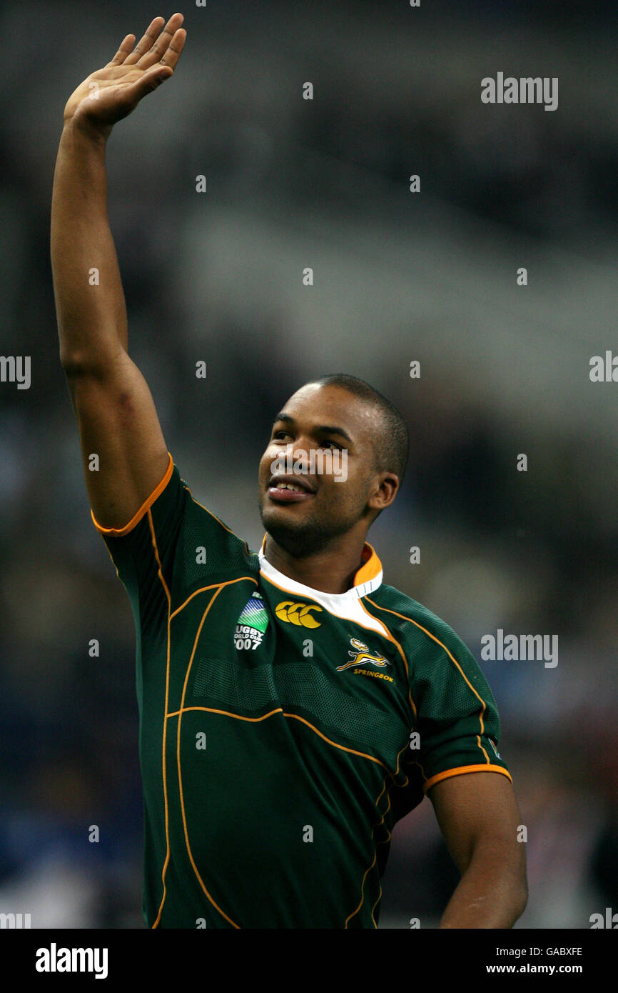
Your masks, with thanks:
M 165 475 L 153 398 L 127 353 L 127 313 L 107 217 L 105 146 L 116 121 L 174 74 L 183 15 L 127 35 L 110 63 L 68 98 L 52 200 L 51 254 L 62 368 L 96 520 L 124 527 Z M 163 30 L 162 30 L 163 29 Z M 98 457 L 98 470 L 93 467 Z

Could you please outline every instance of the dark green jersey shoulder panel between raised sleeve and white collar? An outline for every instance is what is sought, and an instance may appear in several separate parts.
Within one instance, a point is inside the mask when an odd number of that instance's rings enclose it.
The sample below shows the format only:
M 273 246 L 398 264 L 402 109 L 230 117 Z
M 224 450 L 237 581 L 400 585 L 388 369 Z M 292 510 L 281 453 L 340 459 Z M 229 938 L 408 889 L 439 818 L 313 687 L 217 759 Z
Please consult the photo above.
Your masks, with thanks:
M 188 496 L 182 547 L 177 556 L 176 568 L 179 582 L 193 586 L 209 578 L 240 574 L 258 574 L 257 555 L 247 556 L 245 542 L 231 531 L 226 531 L 203 507 Z M 203 547 L 205 563 L 196 562 L 196 549 Z

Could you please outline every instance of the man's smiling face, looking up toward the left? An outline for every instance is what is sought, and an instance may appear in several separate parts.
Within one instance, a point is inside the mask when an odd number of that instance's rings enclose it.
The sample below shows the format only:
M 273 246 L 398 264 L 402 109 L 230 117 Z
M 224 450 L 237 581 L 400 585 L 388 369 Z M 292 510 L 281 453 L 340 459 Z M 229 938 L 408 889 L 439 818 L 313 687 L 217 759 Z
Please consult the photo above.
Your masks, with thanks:
M 259 503 L 265 529 L 290 554 L 319 550 L 354 525 L 366 531 L 381 509 L 378 416 L 360 397 L 317 383 L 299 389 L 278 415 L 260 460 Z

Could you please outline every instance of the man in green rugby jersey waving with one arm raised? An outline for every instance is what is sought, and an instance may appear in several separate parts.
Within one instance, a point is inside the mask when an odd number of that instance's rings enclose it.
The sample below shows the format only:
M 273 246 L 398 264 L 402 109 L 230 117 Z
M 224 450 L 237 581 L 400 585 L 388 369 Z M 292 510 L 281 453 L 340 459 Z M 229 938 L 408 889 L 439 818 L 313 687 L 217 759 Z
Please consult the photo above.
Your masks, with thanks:
M 440 926 L 511 927 L 525 855 L 493 697 L 365 541 L 405 470 L 401 416 L 351 376 L 299 389 L 260 463 L 256 554 L 191 497 L 127 353 L 105 142 L 172 75 L 182 21 L 127 36 L 68 99 L 52 208 L 92 518 L 136 624 L 145 920 L 376 927 L 392 828 L 427 792 L 461 873 Z

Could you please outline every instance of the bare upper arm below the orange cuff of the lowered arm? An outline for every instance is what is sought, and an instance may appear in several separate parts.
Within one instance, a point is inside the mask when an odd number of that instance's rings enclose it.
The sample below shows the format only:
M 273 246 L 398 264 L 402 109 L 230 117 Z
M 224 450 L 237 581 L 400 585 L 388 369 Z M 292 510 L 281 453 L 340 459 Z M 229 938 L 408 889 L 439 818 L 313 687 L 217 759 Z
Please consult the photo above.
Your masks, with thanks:
M 525 865 L 519 841 L 521 815 L 513 784 L 494 772 L 470 772 L 435 782 L 428 790 L 446 847 L 459 872 L 467 869 L 477 845 L 510 850 Z

